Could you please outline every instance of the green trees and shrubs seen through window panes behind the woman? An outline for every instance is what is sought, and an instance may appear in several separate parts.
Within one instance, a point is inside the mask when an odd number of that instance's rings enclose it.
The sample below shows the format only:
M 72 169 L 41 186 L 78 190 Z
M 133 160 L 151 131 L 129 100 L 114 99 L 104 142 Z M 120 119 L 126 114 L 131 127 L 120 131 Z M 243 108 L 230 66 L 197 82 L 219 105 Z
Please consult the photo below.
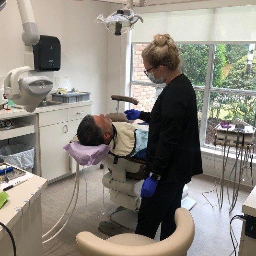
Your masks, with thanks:
M 194 86 L 205 86 L 209 45 L 177 46 L 181 53 L 182 72 L 186 74 Z M 211 87 L 256 91 L 256 54 L 251 73 L 247 74 L 248 49 L 248 44 L 216 45 Z M 230 68 L 226 77 L 224 68 Z M 203 94 L 203 92 L 196 91 L 198 112 L 202 111 Z M 221 118 L 232 121 L 235 117 L 239 117 L 247 123 L 252 123 L 255 109 L 256 97 L 254 95 L 210 93 L 209 96 L 209 118 L 219 118 L 221 115 Z

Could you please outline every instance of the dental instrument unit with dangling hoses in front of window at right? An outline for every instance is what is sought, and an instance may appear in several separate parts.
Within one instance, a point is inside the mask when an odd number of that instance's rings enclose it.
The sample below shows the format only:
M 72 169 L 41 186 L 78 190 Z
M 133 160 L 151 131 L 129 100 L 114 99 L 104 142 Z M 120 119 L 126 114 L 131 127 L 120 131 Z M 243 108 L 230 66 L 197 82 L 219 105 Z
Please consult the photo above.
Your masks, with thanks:
M 218 195 L 217 187 L 216 186 L 216 176 L 215 176 L 215 189 L 209 191 L 212 192 L 216 190 L 217 198 L 218 198 L 218 204 L 219 208 L 222 208 L 223 203 L 223 189 L 224 189 L 224 175 L 226 171 L 226 165 L 228 161 L 228 157 L 230 154 L 230 149 L 235 148 L 235 162 L 233 165 L 233 168 L 228 176 L 228 183 L 227 183 L 227 196 L 228 201 L 230 205 L 229 212 L 231 212 L 236 204 L 238 193 L 239 193 L 239 187 L 241 185 L 241 181 L 246 181 L 249 178 L 252 177 L 252 157 L 251 150 L 254 149 L 255 141 L 254 141 L 254 133 L 255 133 L 255 127 L 250 126 L 246 123 L 244 123 L 242 120 L 236 118 L 234 120 L 235 124 L 229 125 L 224 124 L 221 126 L 221 124 L 218 124 L 215 127 L 215 137 L 214 137 L 214 168 L 215 168 L 215 155 L 216 155 L 216 145 L 221 145 L 221 158 L 222 158 L 222 170 L 221 170 L 221 177 L 220 177 L 220 198 Z M 228 148 L 228 149 L 227 149 Z M 223 152 L 223 154 L 222 154 Z M 243 155 L 244 152 L 244 155 Z M 248 166 L 248 160 L 251 160 L 250 165 Z M 240 161 L 239 161 L 240 160 Z M 248 169 L 251 171 L 251 175 L 248 175 Z M 245 175 L 244 175 L 245 172 Z M 230 181 L 231 177 L 233 175 L 233 195 L 231 197 L 230 195 Z M 252 182 L 252 186 L 253 182 Z M 205 193 L 204 192 L 203 196 Z M 205 196 L 204 196 L 205 197 Z M 206 197 L 205 197 L 206 198 Z M 207 199 L 207 198 L 206 198 Z M 207 199 L 209 202 L 209 200 Z M 209 202 L 210 203 L 210 202 Z M 211 203 L 210 203 L 211 205 Z M 214 205 L 214 206 L 217 206 Z M 212 206 L 212 205 L 211 205 Z M 212 207 L 214 207 L 212 206 Z

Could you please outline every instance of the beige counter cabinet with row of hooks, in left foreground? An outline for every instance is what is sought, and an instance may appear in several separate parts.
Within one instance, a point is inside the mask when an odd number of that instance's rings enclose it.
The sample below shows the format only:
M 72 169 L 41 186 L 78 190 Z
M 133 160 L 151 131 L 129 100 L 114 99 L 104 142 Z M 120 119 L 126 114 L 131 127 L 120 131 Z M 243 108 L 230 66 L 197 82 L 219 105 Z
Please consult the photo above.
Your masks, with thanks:
M 0 210 L 0 220 L 12 232 L 17 255 L 43 256 L 41 193 L 47 180 L 33 175 L 26 182 L 8 190 L 8 202 Z M 0 255 L 13 256 L 9 234 L 0 229 Z

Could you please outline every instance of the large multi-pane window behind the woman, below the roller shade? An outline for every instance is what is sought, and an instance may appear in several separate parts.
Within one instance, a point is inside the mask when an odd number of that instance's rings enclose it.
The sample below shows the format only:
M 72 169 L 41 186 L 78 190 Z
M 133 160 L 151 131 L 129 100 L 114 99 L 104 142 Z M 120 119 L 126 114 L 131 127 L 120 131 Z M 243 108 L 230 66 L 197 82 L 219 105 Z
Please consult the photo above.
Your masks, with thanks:
M 131 96 L 151 111 L 163 85 L 151 83 L 143 73 L 141 52 L 146 44 L 132 45 Z M 197 95 L 198 126 L 202 146 L 213 147 L 214 128 L 235 118 L 254 125 L 256 114 L 255 44 L 178 44 L 181 70 Z

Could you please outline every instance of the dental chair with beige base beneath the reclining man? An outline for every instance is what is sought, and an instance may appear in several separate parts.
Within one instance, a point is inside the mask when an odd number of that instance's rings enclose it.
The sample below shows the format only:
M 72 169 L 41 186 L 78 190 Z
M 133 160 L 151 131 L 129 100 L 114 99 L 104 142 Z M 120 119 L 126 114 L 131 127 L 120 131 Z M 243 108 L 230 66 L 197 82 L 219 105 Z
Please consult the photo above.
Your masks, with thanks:
M 137 105 L 139 101 L 135 98 L 112 95 L 112 100 L 126 101 Z M 112 121 L 129 121 L 124 113 L 118 112 L 106 115 Z M 110 221 L 102 221 L 99 224 L 99 231 L 107 235 L 121 233 L 120 229 L 113 227 L 113 221 L 123 227 L 135 231 L 138 221 L 138 210 L 140 209 L 140 190 L 144 181 L 145 162 L 133 157 L 118 158 L 117 164 L 114 163 L 114 156 L 108 154 L 104 158 L 104 165 L 109 172 L 103 176 L 103 185 L 109 189 L 110 200 L 119 207 L 108 213 Z M 196 201 L 188 197 L 188 187 L 183 189 L 181 207 L 188 210 L 196 205 Z M 116 232 L 116 233 L 115 233 Z

